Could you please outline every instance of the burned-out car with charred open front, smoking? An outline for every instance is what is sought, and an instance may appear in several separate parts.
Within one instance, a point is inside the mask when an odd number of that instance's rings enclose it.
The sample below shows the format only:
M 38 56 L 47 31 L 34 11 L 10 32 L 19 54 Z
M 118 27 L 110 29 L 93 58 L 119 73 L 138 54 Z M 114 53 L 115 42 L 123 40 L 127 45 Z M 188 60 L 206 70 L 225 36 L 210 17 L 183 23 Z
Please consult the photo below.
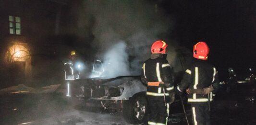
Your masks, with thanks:
M 98 66 L 94 64 L 92 74 L 94 76 L 101 74 L 103 69 L 96 70 L 95 67 Z M 98 107 L 105 113 L 122 112 L 127 122 L 132 124 L 139 124 L 146 120 L 146 86 L 139 76 L 68 79 L 66 88 L 67 97 L 82 100 L 86 107 Z

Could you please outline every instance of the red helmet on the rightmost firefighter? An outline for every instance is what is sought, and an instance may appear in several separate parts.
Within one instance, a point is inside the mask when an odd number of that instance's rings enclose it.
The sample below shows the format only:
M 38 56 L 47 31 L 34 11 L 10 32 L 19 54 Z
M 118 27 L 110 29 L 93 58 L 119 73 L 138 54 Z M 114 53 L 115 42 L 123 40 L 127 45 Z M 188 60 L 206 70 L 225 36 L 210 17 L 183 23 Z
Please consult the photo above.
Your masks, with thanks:
M 196 45 L 194 45 L 193 57 L 207 60 L 209 51 L 210 49 L 206 42 L 198 42 Z

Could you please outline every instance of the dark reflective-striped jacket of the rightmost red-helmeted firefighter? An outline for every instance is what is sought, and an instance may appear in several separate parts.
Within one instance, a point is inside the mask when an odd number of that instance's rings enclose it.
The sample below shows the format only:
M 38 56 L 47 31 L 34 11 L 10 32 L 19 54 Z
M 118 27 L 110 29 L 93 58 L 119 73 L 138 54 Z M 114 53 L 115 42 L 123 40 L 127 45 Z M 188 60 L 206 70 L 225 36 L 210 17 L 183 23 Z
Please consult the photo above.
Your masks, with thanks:
M 212 101 L 212 93 L 215 93 L 219 88 L 218 71 L 215 67 L 207 63 L 206 60 L 196 60 L 194 64 L 186 69 L 183 80 L 177 85 L 178 91 L 187 89 L 204 89 L 212 86 L 214 91 L 209 94 L 195 94 L 188 95 L 188 103 L 204 103 Z

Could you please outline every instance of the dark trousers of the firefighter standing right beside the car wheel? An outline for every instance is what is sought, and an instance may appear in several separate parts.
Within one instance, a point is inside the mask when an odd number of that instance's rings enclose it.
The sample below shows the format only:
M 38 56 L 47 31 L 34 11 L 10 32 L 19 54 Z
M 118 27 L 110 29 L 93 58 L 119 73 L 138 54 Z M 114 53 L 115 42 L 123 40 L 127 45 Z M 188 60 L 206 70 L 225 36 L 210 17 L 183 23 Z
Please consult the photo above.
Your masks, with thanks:
M 164 98 L 148 98 L 149 120 L 148 125 L 167 125 L 169 116 L 169 103 L 164 104 Z

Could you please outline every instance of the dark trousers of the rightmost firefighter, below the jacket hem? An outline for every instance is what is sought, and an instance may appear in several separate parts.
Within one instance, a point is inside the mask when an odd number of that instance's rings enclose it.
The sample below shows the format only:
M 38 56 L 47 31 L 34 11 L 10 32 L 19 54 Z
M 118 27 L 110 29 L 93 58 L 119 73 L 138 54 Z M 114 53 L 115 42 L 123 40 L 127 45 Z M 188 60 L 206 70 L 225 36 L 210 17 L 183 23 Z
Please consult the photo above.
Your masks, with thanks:
M 194 125 L 211 125 L 208 103 L 191 104 L 191 111 Z

